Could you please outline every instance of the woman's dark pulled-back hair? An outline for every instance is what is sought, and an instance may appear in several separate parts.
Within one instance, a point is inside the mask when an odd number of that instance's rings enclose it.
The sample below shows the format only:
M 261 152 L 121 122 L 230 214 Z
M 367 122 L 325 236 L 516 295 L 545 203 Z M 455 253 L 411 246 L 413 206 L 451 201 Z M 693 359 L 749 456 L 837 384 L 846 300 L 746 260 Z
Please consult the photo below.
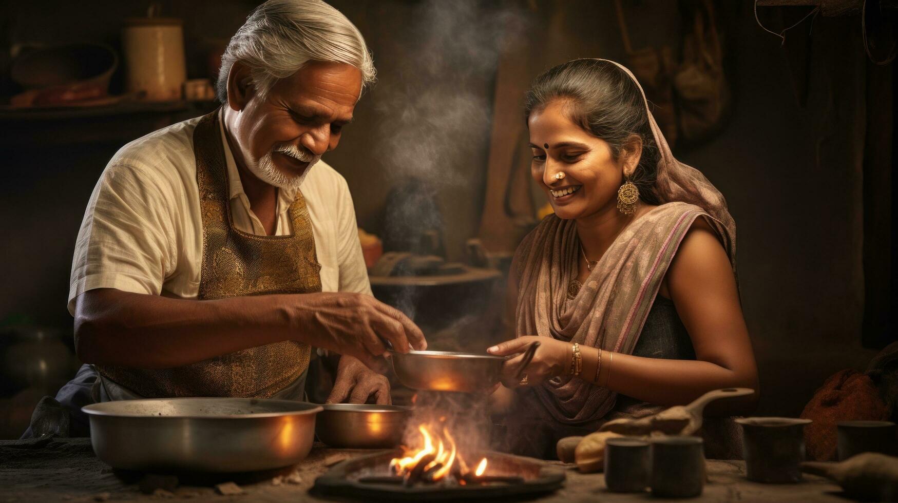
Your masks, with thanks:
M 658 148 L 648 123 L 646 102 L 638 85 L 619 66 L 601 59 L 574 59 L 555 66 L 533 81 L 524 101 L 525 119 L 552 100 L 568 101 L 568 114 L 575 124 L 603 139 L 619 159 L 630 135 L 642 139 L 642 155 L 632 181 L 639 199 L 660 204 L 655 191 Z

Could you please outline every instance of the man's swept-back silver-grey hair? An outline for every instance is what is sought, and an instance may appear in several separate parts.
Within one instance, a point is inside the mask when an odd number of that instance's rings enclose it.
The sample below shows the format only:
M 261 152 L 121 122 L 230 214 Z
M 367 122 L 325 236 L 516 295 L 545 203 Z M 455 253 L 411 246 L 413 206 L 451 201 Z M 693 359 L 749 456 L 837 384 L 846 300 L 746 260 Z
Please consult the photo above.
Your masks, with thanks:
M 362 72 L 363 87 L 373 84 L 376 74 L 362 33 L 321 0 L 269 0 L 250 13 L 222 55 L 216 84 L 222 103 L 227 102 L 227 77 L 237 61 L 250 68 L 262 96 L 309 61 L 355 66 Z

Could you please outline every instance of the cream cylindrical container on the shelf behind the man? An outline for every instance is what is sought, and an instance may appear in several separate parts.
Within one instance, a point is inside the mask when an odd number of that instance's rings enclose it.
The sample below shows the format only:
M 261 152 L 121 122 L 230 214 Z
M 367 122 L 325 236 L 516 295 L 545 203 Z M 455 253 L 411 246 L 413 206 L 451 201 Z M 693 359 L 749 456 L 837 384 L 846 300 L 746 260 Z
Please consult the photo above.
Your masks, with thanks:
M 187 80 L 184 32 L 180 19 L 134 18 L 125 21 L 122 49 L 128 66 L 128 92 L 145 101 L 177 101 Z

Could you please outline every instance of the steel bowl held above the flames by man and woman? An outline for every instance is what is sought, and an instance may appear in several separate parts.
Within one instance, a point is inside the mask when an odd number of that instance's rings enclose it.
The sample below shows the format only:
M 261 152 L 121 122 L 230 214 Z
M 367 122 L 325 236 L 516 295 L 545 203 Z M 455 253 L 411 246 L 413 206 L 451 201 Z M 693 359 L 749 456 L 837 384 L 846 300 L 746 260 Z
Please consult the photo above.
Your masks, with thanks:
M 415 390 L 474 393 L 499 382 L 507 357 L 409 351 L 392 353 L 393 369 L 402 384 Z

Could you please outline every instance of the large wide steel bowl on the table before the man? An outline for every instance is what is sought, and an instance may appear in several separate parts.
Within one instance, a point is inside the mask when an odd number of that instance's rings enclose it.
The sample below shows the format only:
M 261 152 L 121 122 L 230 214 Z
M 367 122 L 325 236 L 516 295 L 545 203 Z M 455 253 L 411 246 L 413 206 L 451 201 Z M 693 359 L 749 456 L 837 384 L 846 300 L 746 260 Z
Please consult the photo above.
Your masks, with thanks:
M 93 452 L 114 468 L 254 472 L 299 463 L 321 406 L 251 398 L 163 398 L 94 403 Z

